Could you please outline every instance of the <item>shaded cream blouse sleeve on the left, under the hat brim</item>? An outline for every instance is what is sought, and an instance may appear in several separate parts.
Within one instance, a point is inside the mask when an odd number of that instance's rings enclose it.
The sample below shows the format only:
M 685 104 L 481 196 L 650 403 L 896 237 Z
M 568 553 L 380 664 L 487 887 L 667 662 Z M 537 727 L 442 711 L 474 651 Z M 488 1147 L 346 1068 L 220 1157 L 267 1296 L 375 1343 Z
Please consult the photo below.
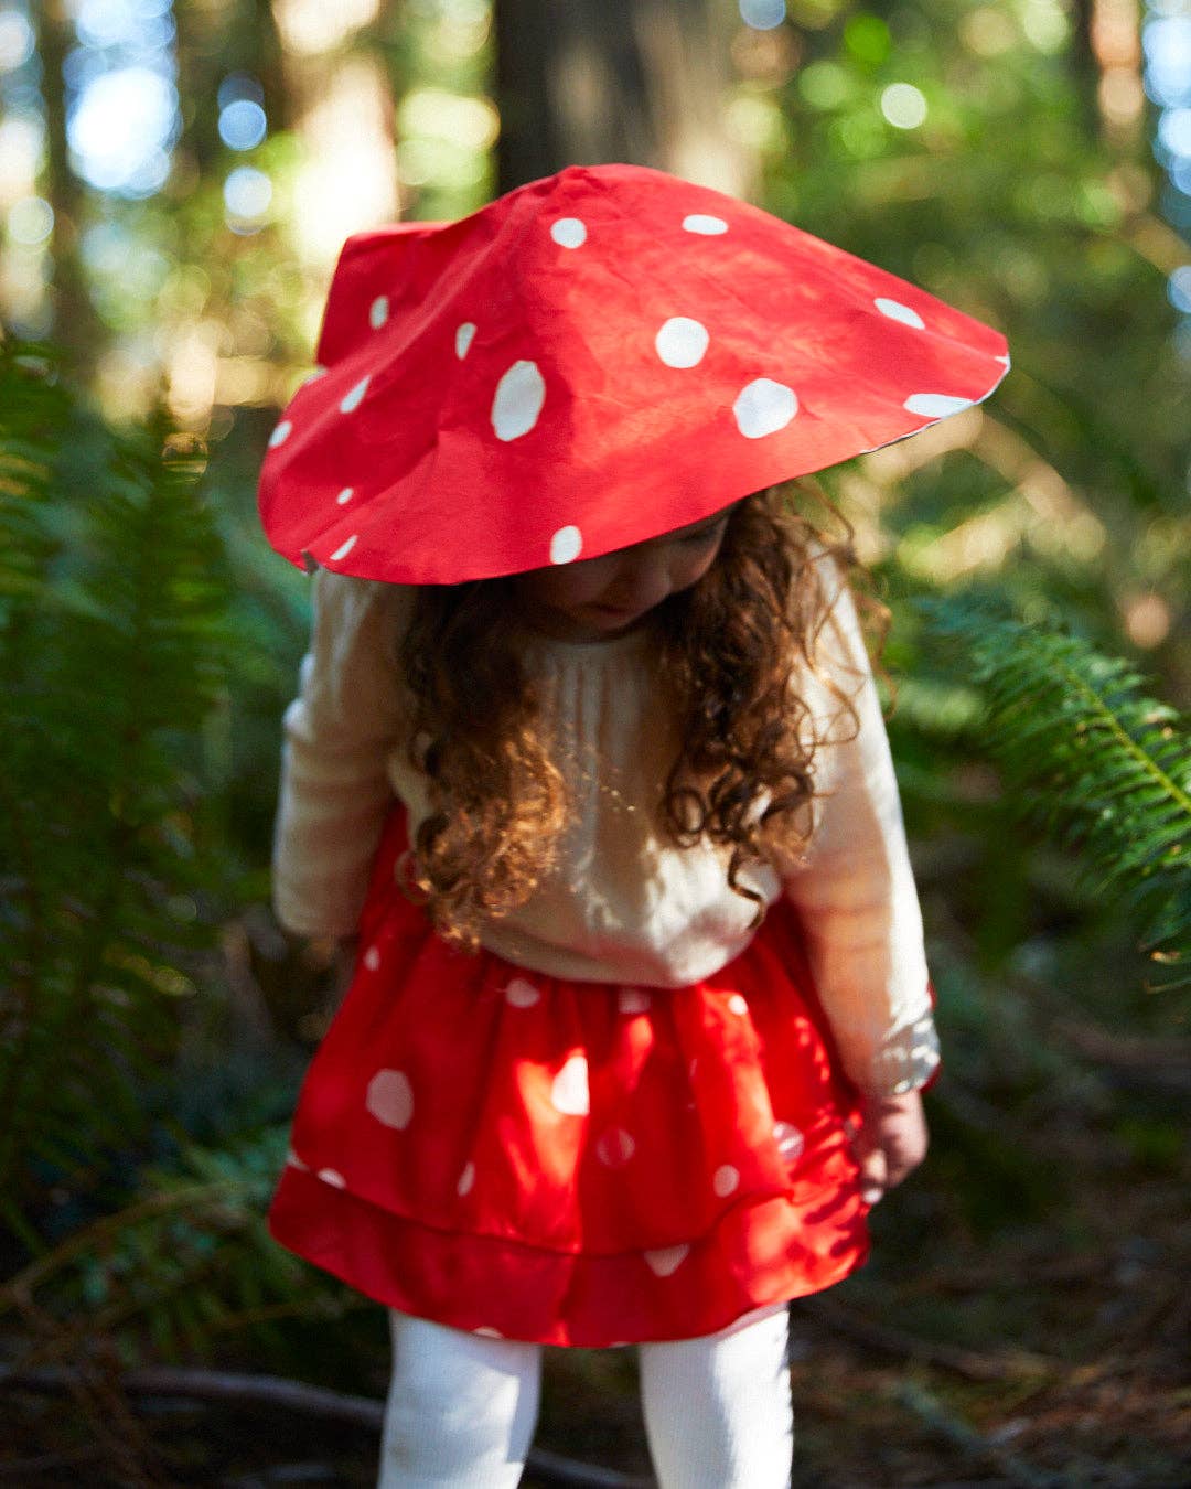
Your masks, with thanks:
M 325 569 L 313 582 L 310 651 L 283 719 L 272 901 L 289 931 L 339 937 L 356 929 L 393 803 L 395 645 L 409 591 Z

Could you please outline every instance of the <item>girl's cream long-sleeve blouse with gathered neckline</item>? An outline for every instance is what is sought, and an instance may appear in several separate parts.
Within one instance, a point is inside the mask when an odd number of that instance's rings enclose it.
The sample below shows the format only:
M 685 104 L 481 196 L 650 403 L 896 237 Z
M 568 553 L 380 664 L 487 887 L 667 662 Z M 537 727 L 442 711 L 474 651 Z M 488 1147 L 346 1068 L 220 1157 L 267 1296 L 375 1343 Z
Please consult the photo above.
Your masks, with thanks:
M 405 749 L 396 646 L 414 591 L 319 570 L 313 640 L 284 715 L 274 904 L 301 935 L 350 935 L 395 795 L 411 835 L 429 813 Z M 531 637 L 551 755 L 570 820 L 555 870 L 482 944 L 540 972 L 646 987 L 709 977 L 752 937 L 753 905 L 713 846 L 679 849 L 655 807 L 677 747 L 648 628 L 600 642 Z M 741 877 L 796 907 L 844 1068 L 865 1091 L 923 1085 L 938 1063 L 922 916 L 877 691 L 847 588 L 823 627 L 819 672 L 852 698 L 859 730 L 822 676 L 795 680 L 816 753 L 814 834 L 788 873 Z M 805 725 L 804 725 L 805 727 Z

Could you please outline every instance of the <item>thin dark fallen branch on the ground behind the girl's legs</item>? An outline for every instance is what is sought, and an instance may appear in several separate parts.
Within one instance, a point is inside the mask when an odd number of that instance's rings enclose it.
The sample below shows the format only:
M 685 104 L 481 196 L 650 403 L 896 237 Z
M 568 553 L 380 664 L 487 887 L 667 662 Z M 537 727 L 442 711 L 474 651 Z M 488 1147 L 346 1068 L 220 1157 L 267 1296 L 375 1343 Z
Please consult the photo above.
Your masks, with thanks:
M 36 1391 L 58 1395 L 70 1389 L 79 1371 L 63 1367 L 42 1370 L 0 1368 L 0 1389 Z M 121 1391 L 130 1397 L 185 1397 L 191 1401 L 229 1401 L 235 1406 L 268 1407 L 317 1416 L 325 1422 L 339 1422 L 380 1434 L 384 1406 L 371 1397 L 345 1395 L 302 1380 L 278 1376 L 232 1374 L 217 1370 L 186 1370 L 173 1365 L 152 1365 L 130 1370 L 118 1377 Z M 579 1489 L 655 1489 L 652 1479 L 597 1468 L 551 1453 L 542 1447 L 530 1450 L 527 1468 L 548 1485 L 575 1485 Z

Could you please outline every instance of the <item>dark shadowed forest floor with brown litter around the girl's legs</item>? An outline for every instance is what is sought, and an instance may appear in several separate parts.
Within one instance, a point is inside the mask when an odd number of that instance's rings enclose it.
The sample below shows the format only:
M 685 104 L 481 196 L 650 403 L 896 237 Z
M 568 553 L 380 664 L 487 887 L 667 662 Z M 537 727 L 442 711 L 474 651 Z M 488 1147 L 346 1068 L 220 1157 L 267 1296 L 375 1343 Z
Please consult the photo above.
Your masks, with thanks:
M 1026 1178 L 990 1167 L 980 1190 L 1015 1185 L 1026 1218 L 989 1230 L 951 1203 L 947 1170 L 971 1142 L 948 1139 L 944 1085 L 944 1151 L 877 1211 L 878 1260 L 792 1310 L 795 1489 L 1191 1483 L 1191 1175 L 1164 1136 L 1170 1099 L 1035 1132 Z M 383 1370 L 378 1354 L 377 1398 Z M 85 1401 L 7 1391 L 0 1412 L 0 1485 L 24 1489 L 375 1476 L 372 1429 L 259 1404 L 128 1403 L 119 1449 L 124 1407 L 101 1434 Z M 537 1446 L 643 1482 L 634 1352 L 549 1351 Z M 582 1480 L 531 1468 L 524 1486 L 567 1482 Z

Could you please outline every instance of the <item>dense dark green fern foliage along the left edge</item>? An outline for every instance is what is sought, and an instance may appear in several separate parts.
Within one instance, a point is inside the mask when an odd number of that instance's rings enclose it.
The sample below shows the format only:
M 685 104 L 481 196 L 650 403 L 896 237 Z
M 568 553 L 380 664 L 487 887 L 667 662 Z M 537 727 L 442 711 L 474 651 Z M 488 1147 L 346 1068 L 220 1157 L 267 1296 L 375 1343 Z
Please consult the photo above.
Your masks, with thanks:
M 30 1245 L 51 1181 L 143 1138 L 208 937 L 226 590 L 199 471 L 0 347 L 0 1214 Z

